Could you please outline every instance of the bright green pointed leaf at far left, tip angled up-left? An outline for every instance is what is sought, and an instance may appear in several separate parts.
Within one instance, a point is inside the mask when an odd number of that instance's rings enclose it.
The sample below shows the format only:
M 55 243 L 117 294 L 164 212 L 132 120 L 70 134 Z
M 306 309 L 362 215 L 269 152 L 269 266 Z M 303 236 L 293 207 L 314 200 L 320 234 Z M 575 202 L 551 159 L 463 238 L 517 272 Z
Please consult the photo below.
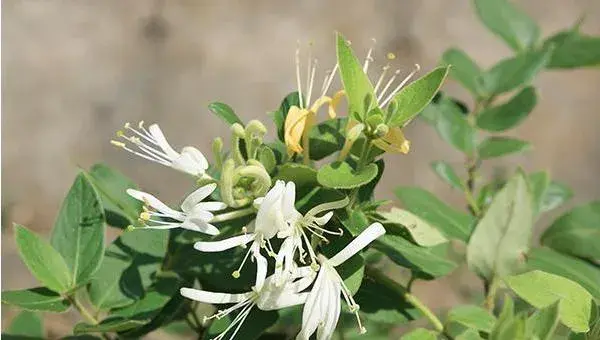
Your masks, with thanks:
M 71 288 L 71 272 L 50 243 L 18 224 L 15 238 L 21 259 L 38 281 L 58 293 Z

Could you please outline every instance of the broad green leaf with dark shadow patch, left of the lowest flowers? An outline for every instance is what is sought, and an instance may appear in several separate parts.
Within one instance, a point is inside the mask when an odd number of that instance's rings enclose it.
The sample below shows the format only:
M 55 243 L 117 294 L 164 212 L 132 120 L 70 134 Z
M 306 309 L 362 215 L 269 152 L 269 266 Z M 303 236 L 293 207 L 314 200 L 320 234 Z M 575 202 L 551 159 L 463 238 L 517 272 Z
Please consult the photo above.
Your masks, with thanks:
M 98 309 L 122 307 L 140 299 L 152 283 L 167 252 L 168 231 L 135 229 L 117 238 L 107 249 L 88 286 Z

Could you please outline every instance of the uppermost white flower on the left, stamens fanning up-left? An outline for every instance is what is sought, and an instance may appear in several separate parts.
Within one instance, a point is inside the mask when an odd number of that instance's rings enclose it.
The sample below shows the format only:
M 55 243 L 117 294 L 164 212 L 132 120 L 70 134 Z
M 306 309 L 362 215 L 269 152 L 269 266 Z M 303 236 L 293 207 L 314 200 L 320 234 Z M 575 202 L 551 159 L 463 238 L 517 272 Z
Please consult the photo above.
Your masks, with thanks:
M 133 136 L 127 136 L 124 131 L 118 131 L 117 136 L 132 143 L 138 150 L 129 148 L 124 142 L 114 140 L 110 142 L 134 155 L 193 176 L 202 177 L 208 169 L 208 161 L 198 149 L 186 146 L 181 149 L 181 152 L 175 151 L 167 142 L 158 124 L 152 124 L 146 130 L 143 121 L 138 124 L 138 129 L 126 123 L 125 130 L 132 132 Z

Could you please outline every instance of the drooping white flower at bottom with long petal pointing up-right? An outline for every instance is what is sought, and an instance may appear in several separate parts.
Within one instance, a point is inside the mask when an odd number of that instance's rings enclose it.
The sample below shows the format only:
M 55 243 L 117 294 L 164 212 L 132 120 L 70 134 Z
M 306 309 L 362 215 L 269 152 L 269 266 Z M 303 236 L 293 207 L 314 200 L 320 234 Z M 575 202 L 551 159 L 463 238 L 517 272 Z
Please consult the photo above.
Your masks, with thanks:
M 383 234 L 385 234 L 383 226 L 380 223 L 373 223 L 332 258 L 327 259 L 325 256 L 319 255 L 321 268 L 304 304 L 302 329 L 296 340 L 308 340 L 315 331 L 317 340 L 331 338 L 340 317 L 340 294 L 346 300 L 350 311 L 356 316 L 360 332 L 367 331 L 358 315 L 360 307 L 354 301 L 352 292 L 344 284 L 335 267 L 344 263 Z

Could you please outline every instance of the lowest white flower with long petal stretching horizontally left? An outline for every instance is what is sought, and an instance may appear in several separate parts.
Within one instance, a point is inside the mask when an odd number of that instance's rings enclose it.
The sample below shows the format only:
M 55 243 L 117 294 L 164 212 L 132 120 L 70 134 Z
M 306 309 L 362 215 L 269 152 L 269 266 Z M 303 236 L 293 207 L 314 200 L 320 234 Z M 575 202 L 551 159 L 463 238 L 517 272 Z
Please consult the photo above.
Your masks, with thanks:
M 273 276 L 265 280 L 261 288 L 253 287 L 252 291 L 239 294 L 217 293 L 205 290 L 181 288 L 180 293 L 188 299 L 212 304 L 233 304 L 233 306 L 219 310 L 204 321 L 220 319 L 239 310 L 229 326 L 213 340 L 223 339 L 233 329 L 229 339 L 233 339 L 242 327 L 244 321 L 255 306 L 261 310 L 278 310 L 291 306 L 301 305 L 306 301 L 308 293 L 301 293 L 308 288 L 314 280 L 314 272 L 308 267 L 298 268 L 294 276 L 285 285 L 274 284 Z

